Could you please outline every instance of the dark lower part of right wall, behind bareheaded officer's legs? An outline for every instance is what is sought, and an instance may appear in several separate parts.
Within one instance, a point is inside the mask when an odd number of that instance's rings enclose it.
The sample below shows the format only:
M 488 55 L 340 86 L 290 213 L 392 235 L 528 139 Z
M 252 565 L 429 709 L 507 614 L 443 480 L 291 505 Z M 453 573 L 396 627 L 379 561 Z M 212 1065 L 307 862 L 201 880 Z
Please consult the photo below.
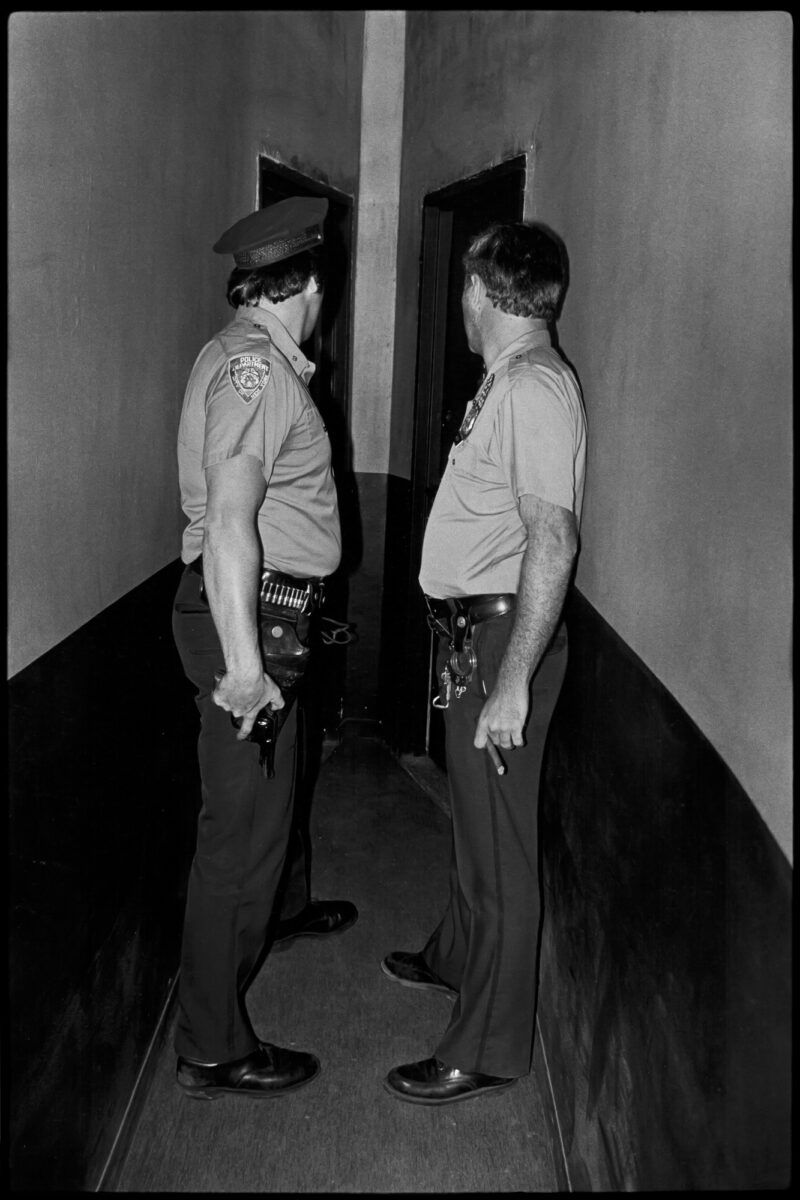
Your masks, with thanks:
M 542 797 L 539 1019 L 576 1190 L 789 1183 L 792 871 L 579 594 Z

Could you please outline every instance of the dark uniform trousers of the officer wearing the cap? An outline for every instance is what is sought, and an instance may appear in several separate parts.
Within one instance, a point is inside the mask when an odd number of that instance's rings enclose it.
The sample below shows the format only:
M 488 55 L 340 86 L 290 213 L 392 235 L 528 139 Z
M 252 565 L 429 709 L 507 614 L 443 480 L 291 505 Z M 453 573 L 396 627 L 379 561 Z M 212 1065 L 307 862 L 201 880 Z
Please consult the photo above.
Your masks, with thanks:
M 173 608 L 175 644 L 198 689 L 203 798 L 184 920 L 175 1050 L 199 1062 L 230 1062 L 259 1044 L 245 991 L 260 965 L 278 889 L 281 917 L 300 912 L 307 900 L 305 841 L 293 823 L 299 706 L 281 730 L 275 778 L 267 779 L 259 748 L 236 740 L 230 713 L 211 698 L 224 656 L 200 583 L 186 570 Z

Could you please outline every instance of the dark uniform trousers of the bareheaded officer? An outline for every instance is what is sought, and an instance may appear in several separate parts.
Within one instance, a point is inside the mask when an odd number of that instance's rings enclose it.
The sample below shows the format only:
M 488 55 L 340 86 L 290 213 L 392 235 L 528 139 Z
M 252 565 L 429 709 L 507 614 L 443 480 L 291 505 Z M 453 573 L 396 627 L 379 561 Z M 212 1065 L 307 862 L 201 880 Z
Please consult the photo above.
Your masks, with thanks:
M 452 810 L 450 900 L 422 955 L 459 995 L 434 1054 L 449 1067 L 512 1078 L 530 1070 L 540 932 L 539 785 L 547 730 L 566 670 L 566 628 L 533 680 L 525 745 L 500 750 L 498 775 L 475 726 L 497 679 L 512 616 L 475 626 L 477 666 L 445 709 Z M 441 640 L 438 672 L 447 660 Z

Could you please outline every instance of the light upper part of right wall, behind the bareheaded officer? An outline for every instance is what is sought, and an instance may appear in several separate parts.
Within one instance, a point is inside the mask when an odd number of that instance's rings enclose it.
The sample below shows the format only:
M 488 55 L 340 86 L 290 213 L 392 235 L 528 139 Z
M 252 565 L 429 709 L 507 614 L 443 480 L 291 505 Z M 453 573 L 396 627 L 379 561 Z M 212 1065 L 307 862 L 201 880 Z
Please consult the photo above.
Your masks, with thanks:
M 423 196 L 528 155 L 583 382 L 578 586 L 792 856 L 792 22 L 414 12 L 390 472 L 410 472 Z

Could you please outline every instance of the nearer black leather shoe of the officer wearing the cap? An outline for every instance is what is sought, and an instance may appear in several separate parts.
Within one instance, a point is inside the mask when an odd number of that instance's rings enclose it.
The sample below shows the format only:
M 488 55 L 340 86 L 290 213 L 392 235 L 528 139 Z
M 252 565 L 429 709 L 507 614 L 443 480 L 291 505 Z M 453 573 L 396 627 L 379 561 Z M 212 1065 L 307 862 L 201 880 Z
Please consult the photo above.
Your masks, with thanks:
M 319 1075 L 319 1058 L 302 1050 L 284 1050 L 282 1046 L 259 1043 L 259 1049 L 246 1058 L 209 1066 L 178 1060 L 178 1086 L 187 1096 L 198 1100 L 216 1100 L 225 1092 L 251 1096 L 264 1100 L 309 1084 Z

